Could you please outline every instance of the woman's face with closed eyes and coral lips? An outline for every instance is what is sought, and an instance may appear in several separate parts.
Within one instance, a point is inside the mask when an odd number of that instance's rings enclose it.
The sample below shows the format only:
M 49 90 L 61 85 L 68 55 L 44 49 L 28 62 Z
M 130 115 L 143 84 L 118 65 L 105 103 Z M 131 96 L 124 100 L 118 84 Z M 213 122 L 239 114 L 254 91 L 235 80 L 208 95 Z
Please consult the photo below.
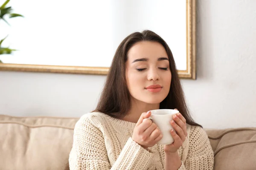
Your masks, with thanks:
M 126 81 L 132 99 L 150 104 L 162 102 L 169 93 L 172 79 L 169 58 L 163 45 L 150 41 L 137 42 L 127 56 Z

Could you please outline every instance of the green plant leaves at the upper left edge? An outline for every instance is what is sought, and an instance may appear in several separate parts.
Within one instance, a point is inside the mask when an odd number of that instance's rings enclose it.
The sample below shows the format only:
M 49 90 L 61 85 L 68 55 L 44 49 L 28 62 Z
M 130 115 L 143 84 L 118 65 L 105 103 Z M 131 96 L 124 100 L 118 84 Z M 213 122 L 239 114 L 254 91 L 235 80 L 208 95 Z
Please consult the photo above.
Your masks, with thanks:
M 20 14 L 15 14 L 15 13 L 12 13 L 12 7 L 9 6 L 9 7 L 6 7 L 6 5 L 9 3 L 10 0 L 6 0 L 5 3 L 3 3 L 3 5 L 0 7 L 0 20 L 3 20 L 5 21 L 9 26 L 10 24 L 7 22 L 7 20 L 5 19 L 5 16 L 9 16 L 9 18 L 13 18 L 13 17 L 23 17 L 22 15 Z M 8 37 L 8 35 L 6 36 Z M 2 47 L 2 42 L 6 39 L 3 38 L 2 40 L 0 40 L 0 54 L 11 54 L 12 51 L 16 51 L 15 49 L 10 49 L 9 47 Z M 1 60 L 0 60 L 1 62 Z

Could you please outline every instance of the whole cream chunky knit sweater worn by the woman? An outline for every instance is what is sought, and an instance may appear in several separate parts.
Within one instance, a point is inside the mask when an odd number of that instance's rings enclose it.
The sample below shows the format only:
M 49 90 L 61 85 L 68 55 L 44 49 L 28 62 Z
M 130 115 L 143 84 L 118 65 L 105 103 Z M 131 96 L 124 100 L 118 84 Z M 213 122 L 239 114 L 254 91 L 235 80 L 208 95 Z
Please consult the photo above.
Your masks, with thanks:
M 76 123 L 70 170 L 163 170 L 163 145 L 145 150 L 131 139 L 135 123 L 87 113 Z M 187 125 L 179 170 L 212 170 L 213 151 L 201 127 Z

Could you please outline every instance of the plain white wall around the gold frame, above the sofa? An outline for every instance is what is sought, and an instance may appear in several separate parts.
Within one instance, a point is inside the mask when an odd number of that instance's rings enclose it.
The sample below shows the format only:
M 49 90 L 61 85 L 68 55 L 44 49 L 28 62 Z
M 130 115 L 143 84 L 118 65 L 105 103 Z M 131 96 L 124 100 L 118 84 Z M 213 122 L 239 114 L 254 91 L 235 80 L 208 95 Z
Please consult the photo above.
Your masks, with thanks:
M 198 0 L 197 80 L 182 79 L 206 128 L 256 127 L 256 1 Z M 0 72 L 0 114 L 78 117 L 105 76 Z

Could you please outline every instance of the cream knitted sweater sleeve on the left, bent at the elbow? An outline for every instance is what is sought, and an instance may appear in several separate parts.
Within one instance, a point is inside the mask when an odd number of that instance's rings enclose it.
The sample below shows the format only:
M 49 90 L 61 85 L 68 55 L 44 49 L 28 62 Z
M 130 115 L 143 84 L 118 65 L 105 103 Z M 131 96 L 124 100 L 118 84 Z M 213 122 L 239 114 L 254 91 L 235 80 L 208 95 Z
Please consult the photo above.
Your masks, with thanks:
M 90 119 L 79 119 L 70 152 L 70 170 L 145 170 L 153 154 L 131 138 L 128 139 L 113 166 L 108 160 L 104 136 Z

